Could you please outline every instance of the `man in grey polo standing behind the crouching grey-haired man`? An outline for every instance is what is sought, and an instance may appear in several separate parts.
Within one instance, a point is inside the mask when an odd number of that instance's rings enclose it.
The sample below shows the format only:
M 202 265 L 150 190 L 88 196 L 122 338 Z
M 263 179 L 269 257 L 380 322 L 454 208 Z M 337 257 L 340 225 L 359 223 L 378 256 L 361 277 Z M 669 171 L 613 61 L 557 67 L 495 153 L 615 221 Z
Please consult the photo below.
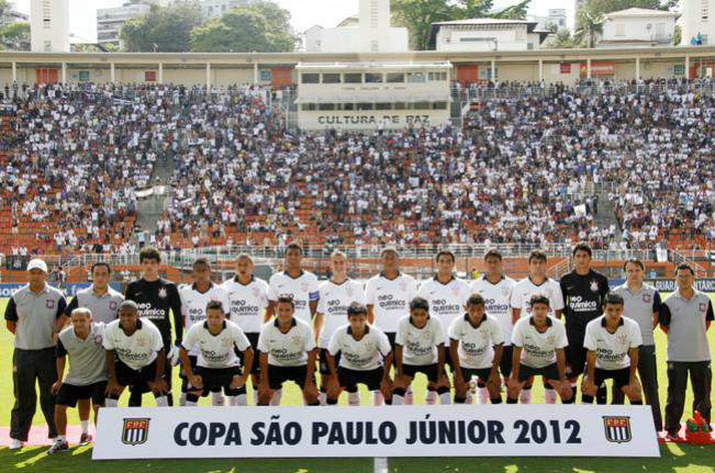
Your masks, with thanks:
M 116 319 L 119 306 L 124 301 L 124 296 L 109 285 L 112 268 L 108 262 L 96 262 L 92 264 L 90 274 L 92 275 L 92 284 L 87 289 L 77 291 L 62 317 L 60 325 L 63 327 L 69 323 L 69 317 L 76 308 L 88 308 L 92 314 L 92 322 L 96 323 L 109 324 Z M 91 408 L 89 401 L 79 399 L 77 403 L 79 424 L 82 428 L 80 446 L 92 441 L 92 436 L 89 433 L 89 412 Z

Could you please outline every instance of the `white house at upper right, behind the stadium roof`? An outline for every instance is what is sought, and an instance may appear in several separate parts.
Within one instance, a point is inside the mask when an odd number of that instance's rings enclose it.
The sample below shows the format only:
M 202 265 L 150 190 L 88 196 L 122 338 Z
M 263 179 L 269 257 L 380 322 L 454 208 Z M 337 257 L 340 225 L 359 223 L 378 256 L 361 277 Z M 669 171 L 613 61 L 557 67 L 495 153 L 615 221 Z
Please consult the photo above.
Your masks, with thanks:
M 596 47 L 672 46 L 679 13 L 629 8 L 606 13 Z

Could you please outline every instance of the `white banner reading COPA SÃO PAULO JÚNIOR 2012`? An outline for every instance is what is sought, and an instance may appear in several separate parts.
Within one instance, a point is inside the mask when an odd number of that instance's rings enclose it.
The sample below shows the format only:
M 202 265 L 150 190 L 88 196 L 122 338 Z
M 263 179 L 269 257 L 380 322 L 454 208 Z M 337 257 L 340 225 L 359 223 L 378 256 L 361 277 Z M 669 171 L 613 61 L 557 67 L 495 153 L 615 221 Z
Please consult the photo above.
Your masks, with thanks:
M 649 406 L 102 408 L 94 460 L 660 457 Z

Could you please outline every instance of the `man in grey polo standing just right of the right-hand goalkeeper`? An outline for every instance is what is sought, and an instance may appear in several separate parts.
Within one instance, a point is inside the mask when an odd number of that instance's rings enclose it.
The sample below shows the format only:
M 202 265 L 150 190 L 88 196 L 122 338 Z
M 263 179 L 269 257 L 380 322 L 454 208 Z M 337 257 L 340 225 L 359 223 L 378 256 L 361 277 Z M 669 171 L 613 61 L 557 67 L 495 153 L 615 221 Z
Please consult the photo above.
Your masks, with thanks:
M 658 397 L 658 364 L 656 363 L 656 339 L 653 329 L 658 326 L 660 293 L 656 288 L 643 282 L 645 264 L 638 259 L 629 259 L 623 266 L 626 282 L 613 290 L 624 300 L 623 314 L 636 320 L 640 327 L 643 345 L 638 350 L 638 378 L 643 383 L 646 403 L 650 405 L 656 431 L 663 429 L 663 418 Z M 623 403 L 623 393 L 613 392 L 615 403 Z

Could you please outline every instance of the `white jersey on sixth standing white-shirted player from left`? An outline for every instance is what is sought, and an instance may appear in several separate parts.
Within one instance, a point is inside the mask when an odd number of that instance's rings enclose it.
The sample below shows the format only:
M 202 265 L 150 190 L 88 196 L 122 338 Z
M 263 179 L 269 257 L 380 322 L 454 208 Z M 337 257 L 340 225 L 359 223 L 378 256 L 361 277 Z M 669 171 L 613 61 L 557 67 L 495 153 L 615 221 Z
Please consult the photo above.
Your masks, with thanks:
M 451 320 L 465 313 L 471 289 L 459 278 L 453 277 L 448 283 L 443 284 L 437 277 L 434 277 L 422 283 L 417 295 L 429 303 L 429 314 L 436 315 L 443 327 L 449 327 Z M 447 334 L 445 334 L 445 344 L 449 346 Z

